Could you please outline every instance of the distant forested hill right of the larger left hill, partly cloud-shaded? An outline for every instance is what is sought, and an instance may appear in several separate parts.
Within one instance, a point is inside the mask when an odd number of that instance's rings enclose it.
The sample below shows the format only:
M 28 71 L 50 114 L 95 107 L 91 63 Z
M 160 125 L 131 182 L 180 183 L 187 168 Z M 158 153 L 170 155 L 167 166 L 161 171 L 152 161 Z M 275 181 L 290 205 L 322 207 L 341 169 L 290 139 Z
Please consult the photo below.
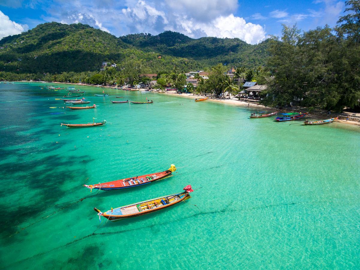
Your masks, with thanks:
M 159 35 L 130 34 L 120 37 L 147 52 L 158 52 L 175 57 L 193 58 L 205 66 L 224 63 L 257 67 L 265 65 L 268 41 L 251 45 L 238 38 L 201 37 L 192 39 L 177 32 L 165 31 Z

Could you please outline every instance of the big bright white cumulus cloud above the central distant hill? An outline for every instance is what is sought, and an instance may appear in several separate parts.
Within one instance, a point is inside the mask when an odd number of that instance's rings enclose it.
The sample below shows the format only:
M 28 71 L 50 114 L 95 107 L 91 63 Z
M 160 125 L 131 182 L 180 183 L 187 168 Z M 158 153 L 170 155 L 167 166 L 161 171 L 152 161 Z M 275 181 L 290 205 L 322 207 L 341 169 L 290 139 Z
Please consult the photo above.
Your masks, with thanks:
M 176 3 L 167 1 L 170 10 L 166 13 L 153 8 L 143 0 L 139 0 L 133 7 L 123 9 L 122 12 L 128 21 L 127 26 L 132 32 L 137 30 L 157 34 L 163 30 L 171 30 L 194 38 L 238 37 L 251 44 L 265 39 L 266 33 L 262 26 L 246 23 L 243 18 L 228 14 L 230 10 L 237 8 L 234 0 L 221 1 L 222 4 L 220 1 L 200 0 L 203 5 L 194 5 L 193 1 L 189 0 Z

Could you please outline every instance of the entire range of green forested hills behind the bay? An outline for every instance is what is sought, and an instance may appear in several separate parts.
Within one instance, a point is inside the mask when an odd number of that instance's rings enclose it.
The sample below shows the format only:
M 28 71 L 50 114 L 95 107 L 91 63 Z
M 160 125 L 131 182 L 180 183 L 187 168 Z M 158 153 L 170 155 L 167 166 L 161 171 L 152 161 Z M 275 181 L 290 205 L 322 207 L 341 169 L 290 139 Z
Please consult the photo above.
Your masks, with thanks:
M 224 63 L 257 67 L 265 64 L 267 41 L 250 45 L 240 39 L 192 39 L 165 31 L 159 35 L 116 37 L 81 23 L 52 22 L 0 40 L 0 71 L 44 73 L 96 71 L 103 61 L 143 73 L 203 69 Z M 161 55 L 161 59 L 158 56 Z

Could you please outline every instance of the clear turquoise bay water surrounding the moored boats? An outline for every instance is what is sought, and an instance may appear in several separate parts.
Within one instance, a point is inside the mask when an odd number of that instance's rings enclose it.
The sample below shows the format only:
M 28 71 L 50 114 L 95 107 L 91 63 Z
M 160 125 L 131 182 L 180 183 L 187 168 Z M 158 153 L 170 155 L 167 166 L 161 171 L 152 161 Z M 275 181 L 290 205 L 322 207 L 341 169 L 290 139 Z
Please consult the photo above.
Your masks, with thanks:
M 247 108 L 166 94 L 94 97 L 103 89 L 82 86 L 96 109 L 50 109 L 67 92 L 39 85 L 0 84 L 1 267 L 359 269 L 359 127 L 248 119 Z M 110 102 L 145 97 L 154 103 Z M 93 117 L 108 123 L 60 127 Z M 172 163 L 183 168 L 143 187 L 82 187 Z M 188 184 L 201 189 L 164 211 L 99 225 L 93 210 Z

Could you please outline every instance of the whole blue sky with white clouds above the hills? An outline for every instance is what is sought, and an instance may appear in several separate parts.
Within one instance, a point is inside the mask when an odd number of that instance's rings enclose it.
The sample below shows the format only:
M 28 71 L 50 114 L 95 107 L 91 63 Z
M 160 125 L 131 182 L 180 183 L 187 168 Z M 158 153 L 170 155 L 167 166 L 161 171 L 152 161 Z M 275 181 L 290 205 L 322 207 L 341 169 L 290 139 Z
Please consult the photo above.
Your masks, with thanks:
M 281 35 L 282 24 L 305 31 L 334 26 L 343 10 L 338 0 L 0 0 L 0 38 L 55 21 L 86 23 L 115 36 L 171 30 L 256 44 Z

